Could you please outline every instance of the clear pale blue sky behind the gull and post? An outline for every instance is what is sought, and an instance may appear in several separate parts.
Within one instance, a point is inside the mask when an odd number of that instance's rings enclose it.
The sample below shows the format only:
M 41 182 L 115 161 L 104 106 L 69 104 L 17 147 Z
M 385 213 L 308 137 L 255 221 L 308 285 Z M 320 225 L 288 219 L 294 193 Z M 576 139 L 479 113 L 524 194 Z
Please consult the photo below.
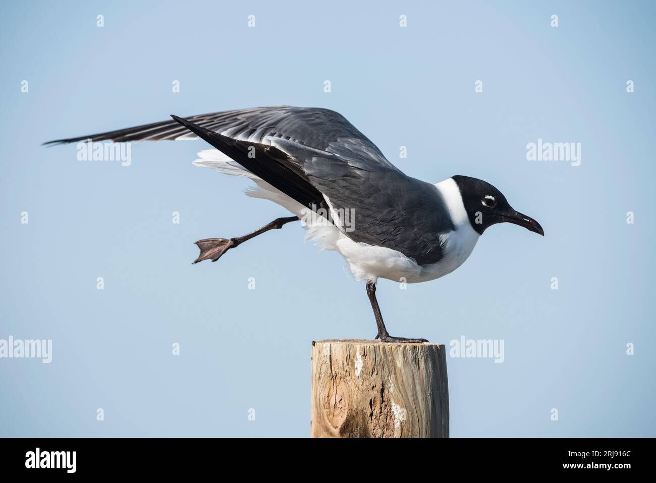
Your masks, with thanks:
M 0 339 L 53 354 L 0 359 L 0 436 L 308 436 L 311 341 L 375 335 L 342 259 L 285 226 L 192 266 L 195 240 L 287 216 L 194 167 L 200 140 L 133 144 L 130 167 L 40 145 L 277 104 L 337 110 L 408 175 L 485 179 L 544 227 L 379 283 L 392 334 L 504 340 L 503 364 L 449 358 L 451 436 L 656 436 L 655 24 L 647 1 L 3 3 Z M 527 161 L 538 138 L 581 165 Z

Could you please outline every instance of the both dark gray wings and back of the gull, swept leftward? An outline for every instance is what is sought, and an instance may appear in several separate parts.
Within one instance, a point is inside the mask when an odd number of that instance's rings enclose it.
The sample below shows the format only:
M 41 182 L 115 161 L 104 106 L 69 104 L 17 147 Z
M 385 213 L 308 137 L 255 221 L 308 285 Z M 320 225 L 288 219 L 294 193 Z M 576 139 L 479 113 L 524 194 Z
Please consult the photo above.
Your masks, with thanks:
M 203 138 L 306 207 L 353 209 L 356 242 L 400 251 L 419 264 L 442 257 L 453 229 L 435 186 L 404 175 L 337 112 L 281 106 L 172 116 L 163 121 L 46 144 Z M 252 149 L 255 148 L 255 156 Z

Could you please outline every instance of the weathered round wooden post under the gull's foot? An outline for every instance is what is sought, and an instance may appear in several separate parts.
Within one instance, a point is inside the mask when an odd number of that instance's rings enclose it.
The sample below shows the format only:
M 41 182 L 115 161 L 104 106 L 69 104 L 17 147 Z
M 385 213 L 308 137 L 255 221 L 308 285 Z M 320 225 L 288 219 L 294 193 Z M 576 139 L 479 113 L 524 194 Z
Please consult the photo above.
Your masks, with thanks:
M 312 438 L 448 438 L 443 344 L 312 343 Z

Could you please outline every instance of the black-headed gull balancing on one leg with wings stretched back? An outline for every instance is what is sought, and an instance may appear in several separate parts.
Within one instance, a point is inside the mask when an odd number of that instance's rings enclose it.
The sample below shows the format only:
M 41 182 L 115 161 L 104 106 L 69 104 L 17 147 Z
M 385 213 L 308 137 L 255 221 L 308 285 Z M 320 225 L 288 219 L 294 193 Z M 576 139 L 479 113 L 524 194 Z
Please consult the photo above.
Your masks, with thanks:
M 488 226 L 510 222 L 544 235 L 540 224 L 510 207 L 491 184 L 453 176 L 431 184 L 411 178 L 337 112 L 291 106 L 251 108 L 161 121 L 45 144 L 86 140 L 129 142 L 201 138 L 216 150 L 195 165 L 250 178 L 247 192 L 294 216 L 278 218 L 236 238 L 206 238 L 194 261 L 217 261 L 268 230 L 302 220 L 306 239 L 340 253 L 365 282 L 383 342 L 427 342 L 392 337 L 376 299 L 379 278 L 413 284 L 453 272 Z

